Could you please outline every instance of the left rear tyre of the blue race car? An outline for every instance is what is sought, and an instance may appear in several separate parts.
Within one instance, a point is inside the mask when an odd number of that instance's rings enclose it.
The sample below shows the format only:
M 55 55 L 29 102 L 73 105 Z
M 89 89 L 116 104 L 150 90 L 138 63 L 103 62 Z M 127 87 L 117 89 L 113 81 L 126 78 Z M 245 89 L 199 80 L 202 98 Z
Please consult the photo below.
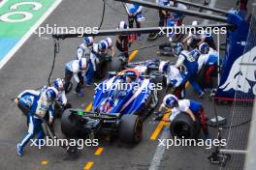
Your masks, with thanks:
M 67 137 L 77 137 L 79 135 L 74 118 L 69 109 L 65 110 L 61 117 L 61 131 Z

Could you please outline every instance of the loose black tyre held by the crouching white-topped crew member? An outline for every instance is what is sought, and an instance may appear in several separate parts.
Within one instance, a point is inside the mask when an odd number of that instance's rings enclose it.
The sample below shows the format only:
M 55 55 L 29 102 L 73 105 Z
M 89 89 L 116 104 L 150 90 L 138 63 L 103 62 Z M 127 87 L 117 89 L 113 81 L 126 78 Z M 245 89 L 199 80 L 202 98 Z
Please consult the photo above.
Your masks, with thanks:
M 200 132 L 200 120 L 194 123 L 187 113 L 182 112 L 172 121 L 170 132 L 173 137 L 194 139 Z

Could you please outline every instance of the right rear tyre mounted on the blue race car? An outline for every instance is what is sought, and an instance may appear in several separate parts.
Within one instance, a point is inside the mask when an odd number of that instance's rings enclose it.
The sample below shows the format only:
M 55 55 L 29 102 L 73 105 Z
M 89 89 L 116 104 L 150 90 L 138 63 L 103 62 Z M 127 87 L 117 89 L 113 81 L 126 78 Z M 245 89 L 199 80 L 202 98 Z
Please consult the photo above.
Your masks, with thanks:
M 137 144 L 143 138 L 143 122 L 138 115 L 123 115 L 118 128 L 122 142 Z

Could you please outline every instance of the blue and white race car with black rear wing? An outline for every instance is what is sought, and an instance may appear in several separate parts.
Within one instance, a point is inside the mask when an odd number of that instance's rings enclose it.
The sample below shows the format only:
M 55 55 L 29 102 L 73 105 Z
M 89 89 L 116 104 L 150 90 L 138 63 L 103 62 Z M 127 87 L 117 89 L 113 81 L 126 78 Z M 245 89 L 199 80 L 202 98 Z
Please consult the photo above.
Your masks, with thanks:
M 132 81 L 127 82 L 131 75 Z M 144 76 L 136 69 L 111 73 L 97 87 L 91 111 L 64 112 L 62 132 L 67 137 L 105 132 L 126 143 L 139 143 L 143 137 L 143 118 L 153 112 L 158 102 L 157 91 L 151 85 L 149 75 Z

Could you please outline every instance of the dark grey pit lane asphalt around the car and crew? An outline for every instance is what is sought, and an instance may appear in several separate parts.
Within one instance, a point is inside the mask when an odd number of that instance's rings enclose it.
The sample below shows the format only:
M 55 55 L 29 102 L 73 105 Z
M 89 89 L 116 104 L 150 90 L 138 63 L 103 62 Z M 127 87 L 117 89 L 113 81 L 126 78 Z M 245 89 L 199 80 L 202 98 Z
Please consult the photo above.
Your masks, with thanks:
M 114 9 L 124 12 L 120 3 L 111 0 L 107 2 Z M 234 4 L 235 1 L 217 1 L 217 7 L 224 10 L 234 7 Z M 63 0 L 56 10 L 48 16 L 48 19 L 46 19 L 42 26 L 46 26 L 47 23 L 58 26 L 98 26 L 102 14 L 102 6 L 103 4 L 100 0 Z M 194 18 L 187 16 L 185 23 L 191 23 Z M 127 20 L 127 16 L 112 11 L 107 6 L 102 29 L 115 28 L 120 20 Z M 155 26 L 157 20 L 157 12 L 149 9 L 143 26 Z M 99 40 L 101 38 L 95 39 L 96 42 Z M 155 42 L 162 41 L 166 41 L 166 38 L 161 38 Z M 77 46 L 80 42 L 80 39 L 61 41 L 61 49 L 56 57 L 52 77 L 64 77 L 65 63 L 75 58 Z M 143 41 L 139 42 L 139 44 L 144 46 L 155 42 L 147 42 L 146 35 L 143 35 Z M 157 57 L 155 54 L 156 50 L 157 47 L 152 47 L 139 51 L 134 61 Z M 91 168 L 94 170 L 148 169 L 158 144 L 157 140 L 149 139 L 157 126 L 157 123 L 153 123 L 151 118 L 144 122 L 143 141 L 134 147 L 127 146 L 118 141 L 110 144 L 108 141 L 102 140 L 100 141 L 100 146 L 104 147 L 104 151 L 100 156 L 94 155 L 97 147 L 86 147 L 80 151 L 79 158 L 72 159 L 59 147 L 45 147 L 42 150 L 38 150 L 35 147 L 29 146 L 25 148 L 24 156 L 19 157 L 16 155 L 16 143 L 22 139 L 27 131 L 27 127 L 25 117 L 21 115 L 21 112 L 11 99 L 15 98 L 23 90 L 36 89 L 47 84 L 52 55 L 53 41 L 50 36 L 45 35 L 44 38 L 39 38 L 37 35 L 33 35 L 0 71 L 0 169 L 82 169 L 88 161 L 94 162 Z M 174 60 L 166 57 L 161 58 Z M 68 99 L 74 107 L 84 108 L 90 103 L 94 94 L 93 88 L 85 88 L 84 92 L 85 97 L 83 98 L 77 97 L 73 93 L 68 95 Z M 159 95 L 160 101 L 163 96 L 164 93 Z M 208 117 L 213 116 L 213 106 L 208 101 L 208 98 L 198 99 L 191 90 L 188 90 L 187 98 L 202 101 Z M 218 107 L 221 115 L 228 113 L 229 109 L 230 106 Z M 55 128 L 57 134 L 62 136 L 59 127 L 60 124 L 57 120 Z M 210 132 L 213 137 L 216 130 L 210 128 Z M 209 154 L 210 151 L 202 147 L 172 147 L 165 152 L 159 169 L 217 169 L 217 166 L 211 165 L 208 162 L 207 156 Z M 43 160 L 47 160 L 48 163 L 46 165 L 41 164 Z

